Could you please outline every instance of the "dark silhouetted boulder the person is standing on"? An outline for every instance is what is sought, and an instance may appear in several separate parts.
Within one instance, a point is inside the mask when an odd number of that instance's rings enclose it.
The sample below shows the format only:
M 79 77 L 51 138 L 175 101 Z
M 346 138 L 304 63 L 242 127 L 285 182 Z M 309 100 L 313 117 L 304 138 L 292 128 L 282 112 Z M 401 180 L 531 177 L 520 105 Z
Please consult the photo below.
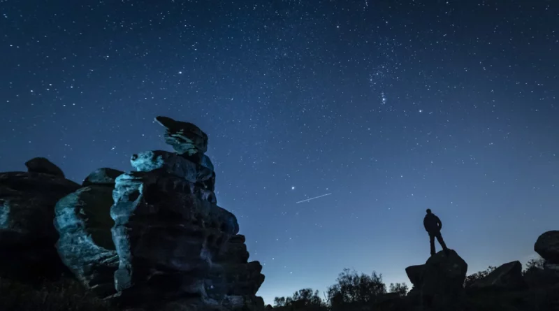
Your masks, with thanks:
M 441 251 L 424 265 L 406 268 L 406 273 L 414 284 L 412 296 L 421 296 L 423 305 L 452 308 L 462 294 L 467 263 L 450 249 L 448 255 Z

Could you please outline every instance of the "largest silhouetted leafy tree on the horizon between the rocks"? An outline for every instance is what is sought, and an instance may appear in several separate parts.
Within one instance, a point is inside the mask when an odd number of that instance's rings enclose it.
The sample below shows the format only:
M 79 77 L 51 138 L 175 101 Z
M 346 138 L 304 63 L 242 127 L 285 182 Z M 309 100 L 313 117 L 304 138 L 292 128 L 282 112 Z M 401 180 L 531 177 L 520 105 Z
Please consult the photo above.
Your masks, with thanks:
M 328 301 L 335 307 L 342 303 L 369 303 L 381 294 L 386 294 L 386 285 L 382 275 L 371 275 L 344 269 L 337 277 L 337 284 L 328 288 Z

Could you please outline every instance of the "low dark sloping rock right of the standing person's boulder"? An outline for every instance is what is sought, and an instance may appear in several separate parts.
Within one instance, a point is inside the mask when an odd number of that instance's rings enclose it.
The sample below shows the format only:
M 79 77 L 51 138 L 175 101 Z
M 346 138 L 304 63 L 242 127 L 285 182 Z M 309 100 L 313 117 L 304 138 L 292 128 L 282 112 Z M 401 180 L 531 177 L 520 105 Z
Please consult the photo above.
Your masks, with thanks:
M 486 277 L 477 280 L 471 289 L 510 290 L 522 289 L 525 282 L 522 277 L 522 264 L 520 261 L 504 263 L 493 270 Z

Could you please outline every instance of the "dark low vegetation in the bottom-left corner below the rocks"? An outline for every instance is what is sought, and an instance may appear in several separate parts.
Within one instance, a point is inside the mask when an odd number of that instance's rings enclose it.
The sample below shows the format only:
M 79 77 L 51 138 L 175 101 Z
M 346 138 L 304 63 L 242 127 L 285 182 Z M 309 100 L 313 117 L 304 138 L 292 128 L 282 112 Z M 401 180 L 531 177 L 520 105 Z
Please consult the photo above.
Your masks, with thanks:
M 0 278 L 2 311 L 113 311 L 78 281 L 62 279 L 29 285 Z

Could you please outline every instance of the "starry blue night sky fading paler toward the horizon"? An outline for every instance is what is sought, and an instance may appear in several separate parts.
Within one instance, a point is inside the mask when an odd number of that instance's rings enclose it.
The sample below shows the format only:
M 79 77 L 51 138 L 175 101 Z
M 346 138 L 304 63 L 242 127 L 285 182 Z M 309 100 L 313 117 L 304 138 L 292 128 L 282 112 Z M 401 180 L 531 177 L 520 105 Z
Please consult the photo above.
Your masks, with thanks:
M 558 1 L 0 0 L 0 29 L 0 171 L 131 171 L 193 122 L 267 303 L 409 284 L 426 208 L 468 273 L 559 229 Z

